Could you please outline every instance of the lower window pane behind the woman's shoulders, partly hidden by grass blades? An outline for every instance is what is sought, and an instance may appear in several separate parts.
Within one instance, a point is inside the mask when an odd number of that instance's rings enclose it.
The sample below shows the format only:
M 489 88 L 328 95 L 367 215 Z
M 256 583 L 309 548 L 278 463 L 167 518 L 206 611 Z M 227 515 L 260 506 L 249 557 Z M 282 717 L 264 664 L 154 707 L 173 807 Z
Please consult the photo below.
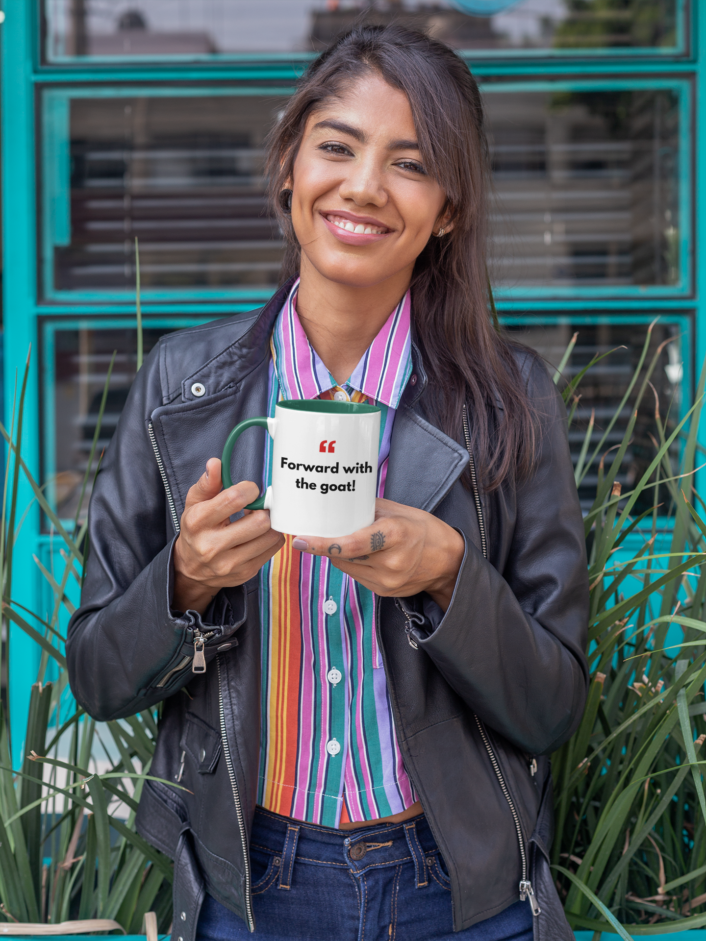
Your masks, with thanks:
M 590 449 L 592 453 L 618 408 L 647 336 L 647 317 L 641 318 L 640 323 L 621 324 L 608 323 L 607 318 L 593 318 L 600 319 L 600 322 L 591 323 L 591 318 L 587 316 L 577 316 L 575 320 L 558 324 L 542 323 L 542 315 L 538 315 L 537 323 L 531 324 L 519 323 L 518 318 L 509 315 L 504 319 L 505 327 L 517 340 L 537 349 L 549 366 L 554 368 L 561 362 L 573 333 L 578 334 L 569 362 L 563 370 L 560 388 L 594 356 L 609 353 L 609 356 L 591 367 L 578 390 L 580 399 L 576 421 L 570 432 L 570 449 L 575 465 L 591 413 L 595 418 Z M 193 321 L 187 322 L 185 319 L 180 320 L 178 325 L 174 321 L 161 322 L 159 326 L 155 322 L 148 323 L 144 330 L 145 355 L 160 336 L 173 329 L 189 326 L 190 323 Z M 663 316 L 652 328 L 648 363 L 657 347 L 671 340 L 660 354 L 650 380 L 659 396 L 662 418 L 669 430 L 682 418 L 682 395 L 686 398 L 690 395 L 691 365 L 686 352 L 689 348 L 690 328 L 687 316 L 672 318 L 671 321 Z M 47 318 L 43 324 L 42 337 L 43 480 L 48 484 L 47 493 L 59 517 L 72 519 L 78 508 L 88 467 L 110 360 L 115 351 L 115 365 L 91 470 L 95 470 L 101 452 L 115 431 L 120 411 L 136 375 L 136 331 L 133 326 L 119 323 L 100 327 L 96 321 L 66 323 Z M 633 401 L 634 398 L 621 411 L 618 422 L 601 453 L 590 465 L 579 489 L 585 511 L 595 497 L 600 458 L 607 454 L 607 459 L 611 459 L 608 449 L 622 439 L 630 420 Z M 640 407 L 634 437 L 618 477 L 624 491 L 650 465 L 655 453 L 650 436 L 654 434 L 654 396 L 650 392 Z M 82 504 L 81 519 L 86 518 L 88 512 L 89 494 L 90 482 Z M 636 513 L 651 506 L 651 496 L 651 492 L 647 491 L 635 508 Z

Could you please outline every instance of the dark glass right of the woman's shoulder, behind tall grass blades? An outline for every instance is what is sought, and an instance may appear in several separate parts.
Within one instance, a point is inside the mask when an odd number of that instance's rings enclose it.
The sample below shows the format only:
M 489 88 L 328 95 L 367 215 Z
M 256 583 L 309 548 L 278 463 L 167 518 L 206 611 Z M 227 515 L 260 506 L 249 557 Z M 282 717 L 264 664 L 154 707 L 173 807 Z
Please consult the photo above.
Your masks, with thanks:
M 567 323 L 551 327 L 545 325 L 513 327 L 511 318 L 507 318 L 505 326 L 509 327 L 521 343 L 526 343 L 538 350 L 550 366 L 551 372 L 552 367 L 555 369 L 561 362 L 573 333 L 578 333 L 576 345 L 573 348 L 569 362 L 562 371 L 563 378 L 559 382 L 559 387 L 562 389 L 595 356 L 602 356 L 604 353 L 609 354 L 601 362 L 590 368 L 578 388 L 580 398 L 576 408 L 577 421 L 573 423 L 570 431 L 570 449 L 575 466 L 581 453 L 591 413 L 594 415 L 595 425 L 589 454 L 593 453 L 602 439 L 603 432 L 615 415 L 640 359 L 648 325 L 645 323 L 610 324 L 606 322 L 597 325 Z M 675 425 L 682 418 L 682 393 L 684 393 L 682 387 L 682 351 L 684 356 L 687 353 L 684 348 L 686 339 L 680 336 L 680 329 L 677 325 L 658 321 L 652 328 L 646 365 L 650 363 L 660 344 L 670 338 L 671 342 L 666 343 L 657 359 L 656 367 L 650 378 L 654 392 L 648 390 L 648 394 L 643 398 L 638 409 L 634 436 L 618 474 L 623 492 L 627 492 L 642 477 L 656 454 L 652 441 L 652 436 L 656 437 L 657 434 L 654 419 L 654 395 L 656 394 L 659 397 L 662 421 L 666 423 L 667 435 L 674 430 Z M 605 460 L 610 462 L 615 456 L 615 451 L 611 453 L 609 449 L 614 448 L 623 439 L 640 383 L 641 380 L 637 383 L 632 398 L 629 399 L 627 405 L 620 412 L 618 422 L 614 425 L 603 445 L 602 453 L 597 456 L 586 473 L 582 486 L 579 487 L 579 497 L 585 512 L 590 508 L 596 496 L 600 460 L 605 455 Z M 688 396 L 688 391 L 685 391 L 685 394 Z M 678 455 L 679 448 L 675 446 L 672 453 L 675 467 L 678 465 Z M 664 477 L 665 474 L 662 476 Z M 667 501 L 666 492 L 662 492 L 659 499 Z M 634 514 L 639 515 L 644 510 L 649 509 L 653 504 L 653 500 L 654 492 L 652 490 L 645 491 L 640 501 L 635 505 Z M 662 512 L 666 513 L 666 504 Z

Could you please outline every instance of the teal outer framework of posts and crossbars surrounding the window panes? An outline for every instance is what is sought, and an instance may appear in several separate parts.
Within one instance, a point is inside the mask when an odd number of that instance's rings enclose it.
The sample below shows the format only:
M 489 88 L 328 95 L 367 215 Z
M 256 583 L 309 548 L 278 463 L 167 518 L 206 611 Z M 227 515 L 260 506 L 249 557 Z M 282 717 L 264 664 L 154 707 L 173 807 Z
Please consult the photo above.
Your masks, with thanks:
M 78 303 L 71 296 L 56 297 L 51 304 L 40 303 L 38 285 L 40 265 L 37 247 L 40 244 L 38 231 L 37 186 L 40 180 L 41 158 L 38 157 L 35 135 L 40 128 L 40 97 L 43 88 L 61 96 L 61 88 L 68 90 L 69 97 L 80 93 L 79 89 L 91 86 L 119 88 L 122 83 L 151 83 L 179 81 L 200 85 L 228 82 L 237 88 L 238 81 L 278 83 L 289 87 L 301 72 L 305 61 L 302 56 L 292 56 L 265 61 L 258 59 L 241 62 L 223 59 L 216 63 L 185 62 L 164 64 L 121 61 L 116 65 L 93 62 L 81 65 L 48 67 L 40 63 L 39 0 L 1 0 L 5 21 L 0 25 L 0 120 L 2 122 L 2 224 L 3 224 L 3 310 L 5 342 L 5 423 L 9 424 L 16 375 L 22 376 L 27 352 L 32 348 L 30 375 L 24 420 L 23 456 L 27 467 L 40 475 L 40 363 L 38 361 L 39 318 L 41 315 L 61 314 L 74 318 L 105 318 L 130 316 L 134 310 L 130 297 L 108 296 L 86 298 Z M 690 136 L 685 142 L 687 157 L 692 162 L 693 188 L 688 185 L 683 191 L 684 218 L 691 215 L 688 230 L 682 231 L 689 257 L 684 259 L 682 271 L 686 281 L 680 287 L 660 289 L 656 292 L 634 292 L 621 299 L 610 292 L 601 296 L 592 293 L 590 299 L 582 299 L 575 291 L 571 296 L 558 297 L 550 291 L 514 291 L 499 297 L 498 308 L 505 317 L 529 313 L 544 315 L 549 322 L 557 317 L 586 313 L 615 317 L 619 320 L 634 312 L 644 316 L 650 311 L 668 311 L 675 317 L 686 317 L 695 311 L 695 364 L 698 367 L 706 356 L 706 280 L 701 245 L 706 238 L 706 121 L 703 120 L 706 103 L 706 63 L 703 50 L 706 43 L 706 18 L 698 16 L 698 3 L 691 7 L 691 23 L 686 34 L 690 35 L 693 56 L 676 57 L 661 54 L 644 56 L 635 51 L 629 56 L 595 56 L 582 60 L 568 56 L 564 60 L 558 55 L 518 56 L 516 59 L 499 61 L 489 56 L 478 56 L 471 61 L 473 72 L 479 77 L 512 76 L 513 82 L 537 83 L 548 78 L 561 80 L 563 76 L 580 81 L 591 80 L 592 86 L 615 77 L 618 83 L 639 83 L 651 80 L 680 85 L 684 88 L 683 113 L 691 119 Z M 690 79 L 690 88 L 684 85 Z M 615 82 L 612 83 L 615 85 Z M 269 88 L 270 92 L 272 88 Z M 687 172 L 682 167 L 684 173 Z M 692 294 L 688 277 L 693 277 Z M 648 297 L 648 295 L 650 295 Z M 253 301 L 255 298 L 252 298 Z M 155 298 L 144 304 L 145 314 L 158 315 L 168 320 L 176 314 L 189 314 L 200 319 L 204 314 L 214 317 L 226 311 L 247 309 L 244 297 L 234 294 L 220 296 L 216 302 L 192 297 L 184 301 L 179 298 Z M 701 440 L 706 443 L 706 434 Z M 700 486 L 706 485 L 706 473 L 700 474 Z M 21 493 L 24 508 L 32 499 L 28 486 Z M 40 514 L 33 506 L 20 533 L 16 545 L 16 563 L 13 575 L 13 598 L 34 610 L 40 609 L 45 589 L 33 554 L 42 559 L 51 552 L 49 539 L 40 534 Z M 39 664 L 39 648 L 15 627 L 9 631 L 10 676 L 9 698 L 11 708 L 11 732 L 15 767 L 21 758 L 24 726 L 26 723 L 28 695 L 35 680 Z

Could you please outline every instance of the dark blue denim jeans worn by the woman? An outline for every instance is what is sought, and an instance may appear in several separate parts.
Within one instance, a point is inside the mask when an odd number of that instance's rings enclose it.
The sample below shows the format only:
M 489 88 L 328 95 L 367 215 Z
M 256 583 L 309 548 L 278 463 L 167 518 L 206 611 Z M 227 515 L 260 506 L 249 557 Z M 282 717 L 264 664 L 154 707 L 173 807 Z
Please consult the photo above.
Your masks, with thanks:
M 454 933 L 451 883 L 424 814 L 343 831 L 258 807 L 250 862 L 256 938 L 532 941 L 526 901 Z M 239 917 L 206 896 L 197 941 L 249 937 Z

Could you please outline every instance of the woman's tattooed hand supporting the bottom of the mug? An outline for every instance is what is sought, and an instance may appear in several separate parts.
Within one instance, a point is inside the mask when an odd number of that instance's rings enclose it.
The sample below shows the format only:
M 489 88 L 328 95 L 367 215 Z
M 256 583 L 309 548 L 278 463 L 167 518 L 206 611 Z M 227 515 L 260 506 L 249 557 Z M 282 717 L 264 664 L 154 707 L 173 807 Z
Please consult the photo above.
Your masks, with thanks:
M 326 555 L 376 595 L 407 598 L 425 591 L 445 612 L 463 560 L 463 537 L 412 506 L 377 500 L 372 526 L 335 539 L 297 535 L 294 549 Z

